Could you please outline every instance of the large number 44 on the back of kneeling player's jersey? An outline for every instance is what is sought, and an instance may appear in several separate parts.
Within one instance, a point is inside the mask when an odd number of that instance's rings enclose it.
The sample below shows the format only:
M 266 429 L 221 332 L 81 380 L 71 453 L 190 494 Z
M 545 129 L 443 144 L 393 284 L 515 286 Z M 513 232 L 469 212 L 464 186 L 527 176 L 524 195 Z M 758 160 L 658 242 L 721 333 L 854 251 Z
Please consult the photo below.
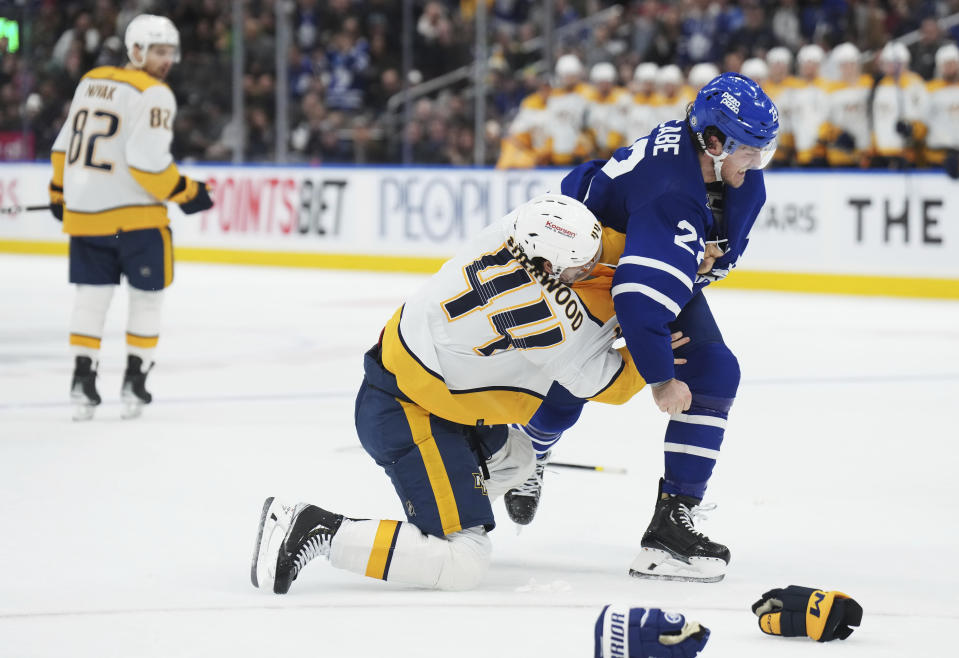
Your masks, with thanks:
M 494 299 L 508 292 L 533 283 L 532 277 L 522 267 L 493 274 L 488 279 L 482 276 L 484 270 L 500 268 L 511 259 L 512 255 L 504 247 L 496 253 L 485 254 L 463 268 L 463 276 L 469 288 L 443 303 L 443 310 L 450 322 L 488 306 Z M 473 348 L 474 352 L 482 356 L 491 356 L 509 349 L 550 347 L 563 342 L 563 329 L 545 297 L 540 297 L 532 304 L 491 312 L 486 317 L 496 335 L 492 340 Z M 517 331 L 524 330 L 531 333 L 517 335 Z

